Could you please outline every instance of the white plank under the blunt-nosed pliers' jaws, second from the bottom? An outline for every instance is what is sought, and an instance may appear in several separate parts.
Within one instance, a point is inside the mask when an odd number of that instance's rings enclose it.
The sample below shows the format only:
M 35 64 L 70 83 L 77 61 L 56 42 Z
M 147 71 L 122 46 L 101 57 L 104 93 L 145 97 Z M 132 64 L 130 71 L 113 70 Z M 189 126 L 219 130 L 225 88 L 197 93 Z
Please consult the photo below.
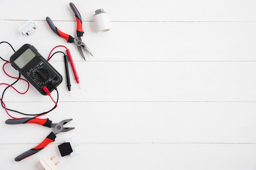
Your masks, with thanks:
M 25 113 L 40 113 L 49 105 L 8 103 Z M 255 143 L 255 109 L 255 102 L 60 102 L 42 118 L 54 123 L 73 118 L 66 126 L 75 129 L 58 134 L 57 143 L 67 137 L 81 143 Z M 40 143 L 51 131 L 4 124 L 9 117 L 2 108 L 1 114 L 1 144 Z

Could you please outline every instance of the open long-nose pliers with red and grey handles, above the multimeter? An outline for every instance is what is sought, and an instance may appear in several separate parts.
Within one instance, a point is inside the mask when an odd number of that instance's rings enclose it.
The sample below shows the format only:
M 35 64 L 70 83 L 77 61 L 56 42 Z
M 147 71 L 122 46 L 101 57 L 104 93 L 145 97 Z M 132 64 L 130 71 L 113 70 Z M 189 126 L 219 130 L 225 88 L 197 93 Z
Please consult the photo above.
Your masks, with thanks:
M 85 57 L 83 55 L 82 48 L 89 52 L 92 55 L 92 52 L 88 49 L 88 47 L 83 43 L 81 37 L 83 36 L 83 29 L 82 29 L 82 17 L 76 8 L 76 6 L 70 2 L 70 7 L 72 11 L 75 14 L 76 17 L 76 34 L 77 34 L 77 39 L 74 39 L 71 35 L 65 34 L 62 31 L 60 31 L 52 22 L 50 17 L 46 17 L 46 21 L 49 24 L 49 26 L 52 28 L 52 31 L 57 34 L 58 36 L 64 38 L 68 43 L 74 42 L 76 44 L 77 49 L 79 50 L 80 54 L 82 55 L 83 59 L 85 60 Z M 93 56 L 93 55 L 92 55 Z

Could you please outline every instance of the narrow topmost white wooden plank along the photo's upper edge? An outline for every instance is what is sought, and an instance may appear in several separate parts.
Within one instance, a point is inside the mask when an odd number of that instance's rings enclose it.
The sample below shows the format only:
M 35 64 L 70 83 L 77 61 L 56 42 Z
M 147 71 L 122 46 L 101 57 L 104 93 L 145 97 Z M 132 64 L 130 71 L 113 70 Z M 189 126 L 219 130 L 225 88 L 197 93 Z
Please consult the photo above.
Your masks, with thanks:
M 70 1 L 41 2 L 15 0 L 2 2 L 0 20 L 75 20 Z M 254 0 L 103 0 L 74 2 L 84 21 L 93 21 L 94 11 L 105 9 L 111 21 L 255 21 Z M 22 7 L 22 9 L 20 9 Z M 10 13 L 13 9 L 19 9 Z

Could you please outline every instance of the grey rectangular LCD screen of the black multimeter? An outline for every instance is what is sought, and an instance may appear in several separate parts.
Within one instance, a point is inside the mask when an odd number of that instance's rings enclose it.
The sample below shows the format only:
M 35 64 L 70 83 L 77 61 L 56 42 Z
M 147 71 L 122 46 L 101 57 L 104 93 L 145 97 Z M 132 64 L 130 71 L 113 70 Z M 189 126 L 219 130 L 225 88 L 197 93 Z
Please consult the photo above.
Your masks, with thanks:
M 13 62 L 18 65 L 19 68 L 23 68 L 31 59 L 36 57 L 36 53 L 34 53 L 30 48 L 27 48 L 17 59 Z

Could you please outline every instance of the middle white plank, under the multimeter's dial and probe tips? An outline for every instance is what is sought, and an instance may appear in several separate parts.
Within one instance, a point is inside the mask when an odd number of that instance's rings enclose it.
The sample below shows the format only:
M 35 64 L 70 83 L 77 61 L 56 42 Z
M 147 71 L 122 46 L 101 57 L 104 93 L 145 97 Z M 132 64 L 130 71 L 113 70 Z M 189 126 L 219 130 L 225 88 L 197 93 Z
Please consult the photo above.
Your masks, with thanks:
M 68 96 L 64 64 L 52 62 L 63 75 L 59 101 L 256 101 L 255 62 L 75 62 L 80 87 L 72 80 Z M 11 75 L 17 71 L 7 67 Z M 70 73 L 72 74 L 72 72 Z M 3 76 L 2 82 L 13 82 Z M 26 83 L 16 85 L 25 91 Z M 3 89 L 4 86 L 0 87 Z M 55 95 L 55 93 L 53 93 Z M 35 88 L 21 97 L 13 90 L 5 101 L 50 101 Z

